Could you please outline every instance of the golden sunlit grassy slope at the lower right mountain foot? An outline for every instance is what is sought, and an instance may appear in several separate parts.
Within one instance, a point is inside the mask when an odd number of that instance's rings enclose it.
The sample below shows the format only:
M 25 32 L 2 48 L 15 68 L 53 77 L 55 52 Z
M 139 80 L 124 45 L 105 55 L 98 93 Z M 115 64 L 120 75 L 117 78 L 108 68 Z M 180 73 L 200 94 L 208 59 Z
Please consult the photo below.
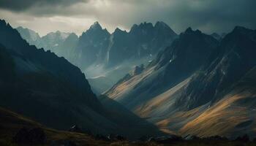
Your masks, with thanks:
M 195 134 L 199 137 L 232 133 L 238 123 L 248 120 L 246 107 L 236 107 L 234 102 L 249 96 L 248 93 L 227 95 L 194 120 L 180 129 L 181 134 Z

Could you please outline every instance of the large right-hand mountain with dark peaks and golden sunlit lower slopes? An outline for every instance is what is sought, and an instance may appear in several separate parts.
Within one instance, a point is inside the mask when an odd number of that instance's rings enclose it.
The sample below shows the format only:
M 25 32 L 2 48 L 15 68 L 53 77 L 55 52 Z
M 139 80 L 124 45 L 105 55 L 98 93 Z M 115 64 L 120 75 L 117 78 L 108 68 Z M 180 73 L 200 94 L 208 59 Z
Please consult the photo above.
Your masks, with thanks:
M 105 96 L 170 134 L 255 137 L 255 55 L 254 30 L 237 26 L 217 40 L 187 28 Z

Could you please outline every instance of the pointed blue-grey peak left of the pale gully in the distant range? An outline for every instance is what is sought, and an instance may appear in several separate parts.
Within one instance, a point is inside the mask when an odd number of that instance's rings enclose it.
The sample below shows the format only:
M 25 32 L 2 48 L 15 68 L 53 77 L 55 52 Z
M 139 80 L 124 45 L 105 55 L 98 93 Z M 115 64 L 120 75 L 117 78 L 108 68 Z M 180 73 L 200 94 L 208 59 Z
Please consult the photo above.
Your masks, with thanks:
M 110 34 L 103 29 L 98 22 L 94 23 L 89 30 L 84 32 L 75 48 L 74 64 L 84 70 L 91 64 L 102 63 L 108 50 Z

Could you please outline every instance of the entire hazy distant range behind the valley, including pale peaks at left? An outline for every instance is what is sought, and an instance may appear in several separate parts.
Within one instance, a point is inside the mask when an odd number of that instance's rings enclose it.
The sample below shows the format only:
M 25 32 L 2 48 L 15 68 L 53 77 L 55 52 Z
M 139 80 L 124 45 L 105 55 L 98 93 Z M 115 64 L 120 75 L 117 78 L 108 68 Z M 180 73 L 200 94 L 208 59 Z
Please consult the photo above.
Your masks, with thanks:
M 135 24 L 129 32 L 116 28 L 112 34 L 96 22 L 79 38 L 60 31 L 40 38 L 27 28 L 18 27 L 17 30 L 29 44 L 44 47 L 78 66 L 87 77 L 92 78 L 92 88 L 97 93 L 113 85 L 102 86 L 97 84 L 99 80 L 118 81 L 137 64 L 148 64 L 159 50 L 164 50 L 178 37 L 163 22 L 154 26 L 152 23 Z

